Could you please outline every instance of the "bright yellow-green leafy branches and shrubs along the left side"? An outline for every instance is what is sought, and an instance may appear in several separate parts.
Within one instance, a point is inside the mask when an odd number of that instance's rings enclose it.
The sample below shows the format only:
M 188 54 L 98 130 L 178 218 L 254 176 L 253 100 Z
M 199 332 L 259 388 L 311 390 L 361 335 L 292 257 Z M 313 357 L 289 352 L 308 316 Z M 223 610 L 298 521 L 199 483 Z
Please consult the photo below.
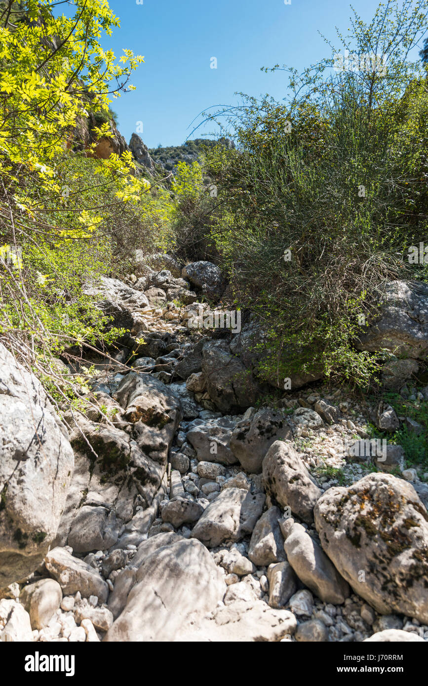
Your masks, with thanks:
M 130 152 L 94 156 L 112 135 L 112 97 L 133 88 L 143 58 L 102 49 L 119 25 L 105 0 L 62 5 L 67 16 L 51 0 L 0 4 L 0 340 L 42 377 L 52 355 L 117 335 L 82 283 L 126 271 L 132 246 L 161 247 L 170 212 Z M 95 142 L 75 152 L 90 113 Z

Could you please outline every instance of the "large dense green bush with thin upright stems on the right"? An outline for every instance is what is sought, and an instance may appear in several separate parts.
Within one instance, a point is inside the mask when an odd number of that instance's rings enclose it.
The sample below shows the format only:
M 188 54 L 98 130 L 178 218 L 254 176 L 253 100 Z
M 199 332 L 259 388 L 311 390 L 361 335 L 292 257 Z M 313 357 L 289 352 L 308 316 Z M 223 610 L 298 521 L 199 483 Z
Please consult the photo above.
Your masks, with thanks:
M 386 73 L 334 73 L 333 55 L 301 77 L 290 70 L 287 104 L 243 96 L 217 113 L 237 149 L 206 152 L 218 196 L 204 226 L 198 204 L 182 210 L 263 322 L 261 371 L 278 383 L 304 371 L 368 386 L 383 358 L 355 351 L 361 315 L 377 314 L 385 281 L 427 276 L 407 261 L 426 235 L 428 174 L 428 82 L 407 60 L 427 3 L 411 4 L 379 5 L 370 25 L 355 15 L 342 39 L 359 56 L 377 45 Z

